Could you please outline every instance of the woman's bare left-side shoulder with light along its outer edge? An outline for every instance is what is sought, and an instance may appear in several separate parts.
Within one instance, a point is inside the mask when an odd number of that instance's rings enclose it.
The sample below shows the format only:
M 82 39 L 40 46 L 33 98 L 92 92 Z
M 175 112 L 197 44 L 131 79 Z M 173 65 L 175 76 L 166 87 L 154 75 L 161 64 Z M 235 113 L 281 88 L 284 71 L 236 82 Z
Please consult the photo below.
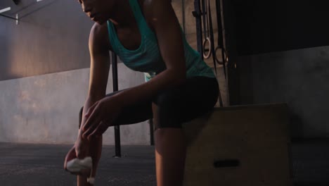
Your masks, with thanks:
M 89 35 L 89 49 L 93 54 L 112 50 L 110 39 L 108 37 L 108 25 L 106 23 L 103 25 L 94 23 L 93 27 L 91 27 Z

